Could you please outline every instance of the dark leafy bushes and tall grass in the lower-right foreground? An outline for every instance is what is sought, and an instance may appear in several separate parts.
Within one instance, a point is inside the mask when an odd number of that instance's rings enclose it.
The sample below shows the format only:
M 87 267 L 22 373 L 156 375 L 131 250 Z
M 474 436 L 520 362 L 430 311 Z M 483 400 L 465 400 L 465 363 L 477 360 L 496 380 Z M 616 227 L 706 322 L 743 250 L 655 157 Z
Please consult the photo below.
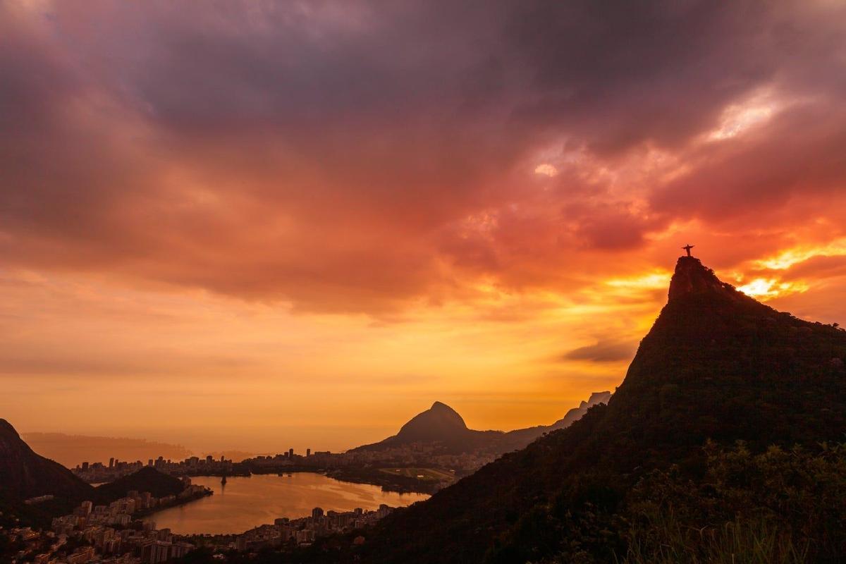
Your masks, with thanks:
M 835 562 L 846 554 L 846 446 L 707 447 L 700 480 L 671 468 L 635 486 L 619 559 L 641 562 Z

